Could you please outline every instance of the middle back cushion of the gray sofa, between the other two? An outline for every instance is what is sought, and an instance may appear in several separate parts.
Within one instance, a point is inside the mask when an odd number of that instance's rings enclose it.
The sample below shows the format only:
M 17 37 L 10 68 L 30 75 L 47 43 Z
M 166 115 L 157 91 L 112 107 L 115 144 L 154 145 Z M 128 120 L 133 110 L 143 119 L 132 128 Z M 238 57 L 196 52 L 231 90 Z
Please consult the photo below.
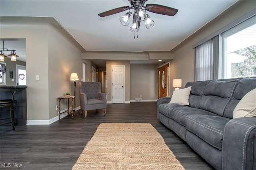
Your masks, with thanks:
M 204 89 L 204 95 L 199 100 L 198 108 L 223 116 L 225 107 L 229 103 L 238 81 L 239 80 L 210 81 Z

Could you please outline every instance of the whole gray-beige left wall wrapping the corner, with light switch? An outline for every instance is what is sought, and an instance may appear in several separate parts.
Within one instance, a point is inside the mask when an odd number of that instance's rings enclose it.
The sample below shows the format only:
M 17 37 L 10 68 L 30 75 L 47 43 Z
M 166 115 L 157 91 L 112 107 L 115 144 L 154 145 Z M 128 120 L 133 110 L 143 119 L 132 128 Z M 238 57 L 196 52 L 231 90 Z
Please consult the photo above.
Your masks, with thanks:
M 56 117 L 57 98 L 74 90 L 70 74 L 76 72 L 82 77 L 80 47 L 75 46 L 63 28 L 58 30 L 58 23 L 54 25 L 51 18 L 50 21 L 45 18 L 1 18 L 1 38 L 26 39 L 27 115 L 30 121 L 47 120 L 47 123 Z M 40 75 L 39 81 L 35 80 L 35 75 Z M 76 99 L 80 106 L 79 98 Z

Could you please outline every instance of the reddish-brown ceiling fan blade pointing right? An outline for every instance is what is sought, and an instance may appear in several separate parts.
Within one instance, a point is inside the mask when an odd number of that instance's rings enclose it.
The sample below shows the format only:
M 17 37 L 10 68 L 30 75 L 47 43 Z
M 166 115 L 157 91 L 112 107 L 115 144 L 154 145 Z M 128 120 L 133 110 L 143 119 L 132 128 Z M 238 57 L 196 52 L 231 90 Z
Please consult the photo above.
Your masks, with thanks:
M 149 12 L 154 12 L 156 14 L 162 14 L 166 16 L 175 16 L 175 14 L 178 12 L 178 10 L 175 8 L 162 6 L 158 4 L 146 4 L 146 7 L 148 8 L 145 8 L 145 10 Z

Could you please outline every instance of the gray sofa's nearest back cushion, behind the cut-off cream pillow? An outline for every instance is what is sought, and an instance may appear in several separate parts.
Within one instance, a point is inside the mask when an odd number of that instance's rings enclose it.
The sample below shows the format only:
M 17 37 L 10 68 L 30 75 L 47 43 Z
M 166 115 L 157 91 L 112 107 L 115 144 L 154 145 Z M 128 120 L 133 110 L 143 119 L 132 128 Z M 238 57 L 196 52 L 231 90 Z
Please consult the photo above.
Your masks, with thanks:
M 240 102 L 244 95 L 254 88 L 256 88 L 256 78 L 242 78 L 238 80 L 234 94 L 232 95 L 231 100 L 228 102 L 223 116 L 232 119 L 234 108 L 238 102 Z

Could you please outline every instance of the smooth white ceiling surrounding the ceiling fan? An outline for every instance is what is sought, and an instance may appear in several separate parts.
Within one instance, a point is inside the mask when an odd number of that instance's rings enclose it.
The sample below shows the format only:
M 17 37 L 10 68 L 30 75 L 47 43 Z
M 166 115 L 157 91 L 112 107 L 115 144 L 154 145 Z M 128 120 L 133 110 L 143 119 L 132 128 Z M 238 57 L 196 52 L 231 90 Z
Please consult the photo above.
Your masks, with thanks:
M 154 27 L 146 29 L 141 25 L 136 39 L 130 26 L 119 22 L 127 11 L 98 16 L 113 8 L 130 6 L 128 0 L 1 0 L 0 14 L 54 17 L 87 51 L 170 51 L 236 1 L 148 0 L 145 4 L 169 6 L 178 9 L 178 13 L 164 16 L 147 12 Z

